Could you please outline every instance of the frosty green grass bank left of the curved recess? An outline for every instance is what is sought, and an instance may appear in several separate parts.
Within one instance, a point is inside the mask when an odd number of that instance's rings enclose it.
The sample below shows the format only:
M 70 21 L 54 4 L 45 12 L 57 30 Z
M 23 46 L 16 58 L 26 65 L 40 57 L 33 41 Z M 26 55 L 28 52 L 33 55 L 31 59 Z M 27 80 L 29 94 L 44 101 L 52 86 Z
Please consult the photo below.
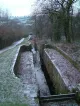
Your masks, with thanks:
M 19 45 L 0 54 L 0 106 L 28 106 L 24 105 L 27 100 L 23 94 L 23 85 L 11 69 L 18 48 Z

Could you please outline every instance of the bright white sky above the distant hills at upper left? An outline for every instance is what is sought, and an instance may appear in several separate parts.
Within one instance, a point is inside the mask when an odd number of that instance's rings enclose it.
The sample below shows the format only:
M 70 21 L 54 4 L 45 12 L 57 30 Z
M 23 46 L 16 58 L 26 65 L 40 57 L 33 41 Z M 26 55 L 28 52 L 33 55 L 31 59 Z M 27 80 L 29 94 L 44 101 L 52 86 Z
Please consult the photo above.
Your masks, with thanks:
M 0 0 L 0 7 L 7 9 L 12 16 L 30 15 L 36 0 Z

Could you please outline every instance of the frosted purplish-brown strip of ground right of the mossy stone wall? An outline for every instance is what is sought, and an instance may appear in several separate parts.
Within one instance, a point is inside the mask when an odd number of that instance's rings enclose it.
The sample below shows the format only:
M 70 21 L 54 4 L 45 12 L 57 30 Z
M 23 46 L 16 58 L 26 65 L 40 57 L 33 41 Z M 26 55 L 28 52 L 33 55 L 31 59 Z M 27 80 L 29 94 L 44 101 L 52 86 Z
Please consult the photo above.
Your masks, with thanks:
M 53 64 L 59 69 L 59 74 L 68 88 L 70 90 L 75 88 L 80 83 L 80 72 L 56 50 L 45 49 L 45 52 Z

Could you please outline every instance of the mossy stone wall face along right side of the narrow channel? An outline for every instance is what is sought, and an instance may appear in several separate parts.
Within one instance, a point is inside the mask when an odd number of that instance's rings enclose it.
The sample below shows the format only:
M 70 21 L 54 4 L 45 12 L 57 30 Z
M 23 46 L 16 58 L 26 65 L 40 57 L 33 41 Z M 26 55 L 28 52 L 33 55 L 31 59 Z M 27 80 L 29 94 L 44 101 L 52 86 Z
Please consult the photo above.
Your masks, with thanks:
M 44 49 L 44 53 L 43 53 L 43 60 L 44 60 L 46 69 L 48 71 L 48 74 L 51 78 L 51 81 L 53 82 L 53 86 L 55 87 L 56 94 L 68 93 L 69 90 L 66 87 L 64 81 L 62 80 L 62 78 L 58 72 L 59 69 L 49 59 L 49 56 L 46 54 L 45 49 Z

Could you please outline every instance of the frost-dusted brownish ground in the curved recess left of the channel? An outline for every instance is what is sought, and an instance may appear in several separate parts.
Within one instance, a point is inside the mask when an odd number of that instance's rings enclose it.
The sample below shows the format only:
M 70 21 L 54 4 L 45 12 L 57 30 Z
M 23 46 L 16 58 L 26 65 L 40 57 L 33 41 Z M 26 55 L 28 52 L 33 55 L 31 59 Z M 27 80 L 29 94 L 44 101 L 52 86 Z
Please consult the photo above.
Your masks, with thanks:
M 22 52 L 18 64 L 18 74 L 23 83 L 23 94 L 28 98 L 30 106 L 38 106 L 35 102 L 38 87 L 36 83 L 35 70 L 33 65 L 33 55 L 31 52 Z

